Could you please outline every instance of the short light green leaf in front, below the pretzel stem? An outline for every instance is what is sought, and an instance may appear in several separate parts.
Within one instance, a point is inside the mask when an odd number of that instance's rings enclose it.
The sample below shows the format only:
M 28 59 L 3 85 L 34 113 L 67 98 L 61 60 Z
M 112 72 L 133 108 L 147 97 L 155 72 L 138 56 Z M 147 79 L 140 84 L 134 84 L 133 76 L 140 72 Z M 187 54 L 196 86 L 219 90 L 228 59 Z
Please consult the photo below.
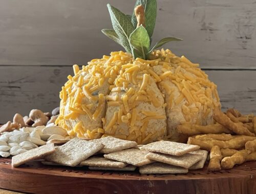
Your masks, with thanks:
M 150 50 L 150 37 L 143 26 L 135 29 L 130 36 L 130 43 L 133 46 L 134 58 L 146 59 L 146 54 Z

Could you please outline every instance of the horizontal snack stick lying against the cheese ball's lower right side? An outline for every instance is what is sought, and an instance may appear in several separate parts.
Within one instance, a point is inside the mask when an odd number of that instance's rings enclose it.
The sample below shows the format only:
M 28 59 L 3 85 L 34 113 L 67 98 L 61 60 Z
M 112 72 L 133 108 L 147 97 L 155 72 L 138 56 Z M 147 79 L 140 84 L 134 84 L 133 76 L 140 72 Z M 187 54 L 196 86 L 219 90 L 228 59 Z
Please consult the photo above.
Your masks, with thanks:
M 212 125 L 196 125 L 196 124 L 183 124 L 177 127 L 179 133 L 186 135 L 198 135 L 198 134 L 208 134 L 208 133 L 230 133 L 226 127 L 220 124 Z

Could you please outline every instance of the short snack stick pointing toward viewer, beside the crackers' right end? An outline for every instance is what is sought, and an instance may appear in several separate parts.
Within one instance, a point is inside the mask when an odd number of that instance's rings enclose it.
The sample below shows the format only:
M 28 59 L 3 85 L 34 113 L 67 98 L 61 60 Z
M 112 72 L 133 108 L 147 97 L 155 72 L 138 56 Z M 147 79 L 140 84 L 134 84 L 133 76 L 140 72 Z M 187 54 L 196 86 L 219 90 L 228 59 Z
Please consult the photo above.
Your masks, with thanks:
M 218 146 L 213 146 L 210 150 L 210 161 L 208 165 L 208 171 L 220 171 L 221 170 L 221 151 Z

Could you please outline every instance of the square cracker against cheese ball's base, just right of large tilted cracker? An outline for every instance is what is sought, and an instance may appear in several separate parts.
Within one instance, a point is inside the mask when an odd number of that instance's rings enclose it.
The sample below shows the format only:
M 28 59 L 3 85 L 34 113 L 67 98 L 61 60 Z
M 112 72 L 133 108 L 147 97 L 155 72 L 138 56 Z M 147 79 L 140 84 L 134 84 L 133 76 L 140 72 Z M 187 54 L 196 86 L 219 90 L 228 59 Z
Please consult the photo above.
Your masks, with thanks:
M 103 154 L 109 154 L 112 152 L 125 150 L 125 149 L 129 149 L 129 148 L 133 148 L 133 147 L 137 146 L 137 142 L 135 142 L 135 141 L 118 139 L 118 138 L 111 137 L 111 136 L 103 137 L 100 139 L 95 139 L 92 141 L 100 142 L 105 146 L 100 151 L 100 153 L 103 153 Z

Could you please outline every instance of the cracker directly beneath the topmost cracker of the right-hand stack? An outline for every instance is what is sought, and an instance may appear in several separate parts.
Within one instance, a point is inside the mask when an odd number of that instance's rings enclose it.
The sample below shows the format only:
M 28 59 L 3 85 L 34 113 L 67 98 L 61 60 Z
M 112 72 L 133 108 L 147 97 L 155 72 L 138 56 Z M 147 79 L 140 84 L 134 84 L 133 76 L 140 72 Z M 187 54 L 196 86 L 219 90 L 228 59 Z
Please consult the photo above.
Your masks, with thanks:
M 189 168 L 190 166 L 200 161 L 202 159 L 202 156 L 199 154 L 184 154 L 182 156 L 172 156 L 162 153 L 150 152 L 146 155 L 146 158 L 166 164 L 171 164 L 174 166 Z

